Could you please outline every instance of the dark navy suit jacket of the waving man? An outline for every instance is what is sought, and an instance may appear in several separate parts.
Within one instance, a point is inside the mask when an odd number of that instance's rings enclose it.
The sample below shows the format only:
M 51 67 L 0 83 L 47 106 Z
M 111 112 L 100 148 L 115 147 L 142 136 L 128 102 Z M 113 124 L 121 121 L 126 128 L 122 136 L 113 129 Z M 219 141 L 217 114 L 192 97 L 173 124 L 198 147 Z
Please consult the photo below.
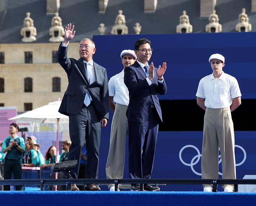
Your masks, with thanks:
M 106 69 L 95 62 L 96 81 L 88 85 L 84 62 L 67 57 L 68 46 L 59 46 L 58 62 L 68 76 L 68 87 L 63 96 L 59 112 L 68 115 L 77 114 L 84 104 L 84 97 L 89 90 L 99 120 L 109 118 L 109 89 Z

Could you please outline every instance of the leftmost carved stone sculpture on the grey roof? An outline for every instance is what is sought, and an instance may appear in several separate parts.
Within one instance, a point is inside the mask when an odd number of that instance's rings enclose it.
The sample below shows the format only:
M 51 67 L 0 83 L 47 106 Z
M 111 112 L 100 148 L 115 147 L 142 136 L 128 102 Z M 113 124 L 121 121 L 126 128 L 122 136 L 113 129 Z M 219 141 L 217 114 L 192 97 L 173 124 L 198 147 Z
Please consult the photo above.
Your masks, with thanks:
M 34 21 L 30 18 L 30 12 L 26 13 L 26 18 L 23 21 L 23 27 L 21 28 L 21 36 L 23 42 L 32 42 L 37 40 L 37 29 L 34 27 Z

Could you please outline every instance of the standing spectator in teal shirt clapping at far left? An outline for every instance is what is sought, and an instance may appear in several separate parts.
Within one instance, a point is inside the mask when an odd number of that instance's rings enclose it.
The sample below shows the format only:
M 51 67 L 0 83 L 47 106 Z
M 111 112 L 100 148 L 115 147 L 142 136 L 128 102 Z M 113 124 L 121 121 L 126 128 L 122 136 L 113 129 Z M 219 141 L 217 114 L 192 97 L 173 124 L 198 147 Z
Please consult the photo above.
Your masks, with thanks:
M 19 137 L 17 132 L 19 126 L 15 123 L 9 126 L 9 137 L 3 141 L 2 152 L 6 153 L 4 161 L 4 179 L 11 179 L 12 173 L 14 179 L 21 179 L 21 159 L 25 151 L 25 142 L 23 137 Z M 10 190 L 10 185 L 4 185 L 4 190 Z M 15 185 L 16 190 L 21 190 L 21 185 Z

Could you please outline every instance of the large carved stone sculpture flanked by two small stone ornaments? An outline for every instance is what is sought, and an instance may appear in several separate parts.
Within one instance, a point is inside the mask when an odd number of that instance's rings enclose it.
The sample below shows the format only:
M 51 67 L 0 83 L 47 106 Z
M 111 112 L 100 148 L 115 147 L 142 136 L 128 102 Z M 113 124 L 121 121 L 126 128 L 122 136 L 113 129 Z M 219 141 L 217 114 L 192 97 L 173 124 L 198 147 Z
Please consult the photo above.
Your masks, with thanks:
M 111 34 L 128 34 L 128 27 L 125 24 L 123 11 L 119 10 L 116 16 L 115 26 L 112 27 Z

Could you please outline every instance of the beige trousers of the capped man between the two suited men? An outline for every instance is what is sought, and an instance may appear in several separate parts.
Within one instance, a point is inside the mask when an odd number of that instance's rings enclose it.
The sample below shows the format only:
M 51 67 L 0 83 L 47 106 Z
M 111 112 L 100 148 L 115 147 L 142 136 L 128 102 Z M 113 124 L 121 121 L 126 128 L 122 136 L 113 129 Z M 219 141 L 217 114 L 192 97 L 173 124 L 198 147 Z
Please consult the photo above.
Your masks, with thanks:
M 125 143 L 128 132 L 126 110 L 128 106 L 116 104 L 110 132 L 109 155 L 107 157 L 107 179 L 123 179 Z M 109 184 L 112 187 L 114 184 Z

